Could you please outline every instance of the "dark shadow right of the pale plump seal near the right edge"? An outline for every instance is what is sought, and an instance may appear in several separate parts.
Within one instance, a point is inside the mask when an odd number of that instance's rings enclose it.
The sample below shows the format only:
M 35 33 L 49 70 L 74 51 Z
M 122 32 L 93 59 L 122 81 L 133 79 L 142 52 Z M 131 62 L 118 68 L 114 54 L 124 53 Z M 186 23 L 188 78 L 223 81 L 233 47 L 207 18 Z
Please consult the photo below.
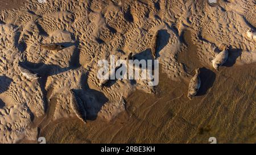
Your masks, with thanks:
M 242 55 L 242 49 L 230 48 L 228 60 L 223 64 L 226 67 L 232 67 L 236 64 L 237 58 Z

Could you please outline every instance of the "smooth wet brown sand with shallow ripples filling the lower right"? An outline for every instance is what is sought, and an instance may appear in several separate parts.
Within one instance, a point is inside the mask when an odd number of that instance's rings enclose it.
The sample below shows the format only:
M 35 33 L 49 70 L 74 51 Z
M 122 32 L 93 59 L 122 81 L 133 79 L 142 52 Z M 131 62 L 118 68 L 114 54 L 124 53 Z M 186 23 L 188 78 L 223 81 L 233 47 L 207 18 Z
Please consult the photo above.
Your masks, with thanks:
M 40 136 L 48 143 L 208 143 L 212 136 L 217 143 L 254 143 L 254 66 L 222 68 L 213 84 L 213 77 L 201 76 L 202 95 L 193 100 L 187 98 L 187 82 L 161 74 L 155 96 L 135 91 L 127 111 L 112 122 L 62 120 Z

